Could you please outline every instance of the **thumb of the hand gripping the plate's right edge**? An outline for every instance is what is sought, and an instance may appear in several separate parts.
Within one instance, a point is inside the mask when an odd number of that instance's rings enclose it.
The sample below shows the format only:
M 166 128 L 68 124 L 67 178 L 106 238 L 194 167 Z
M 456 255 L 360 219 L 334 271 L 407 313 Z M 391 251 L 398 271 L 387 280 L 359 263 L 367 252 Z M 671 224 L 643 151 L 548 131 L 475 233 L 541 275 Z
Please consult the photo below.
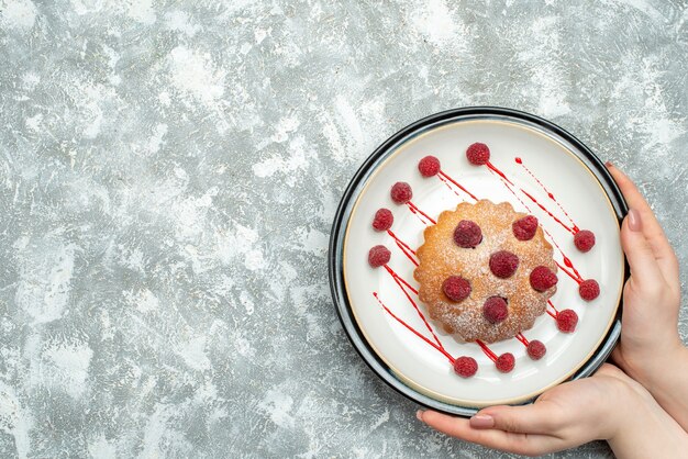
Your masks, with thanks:
M 643 234 L 642 225 L 640 212 L 635 209 L 629 210 L 621 225 L 621 247 L 629 260 L 634 282 L 662 282 L 659 265 Z

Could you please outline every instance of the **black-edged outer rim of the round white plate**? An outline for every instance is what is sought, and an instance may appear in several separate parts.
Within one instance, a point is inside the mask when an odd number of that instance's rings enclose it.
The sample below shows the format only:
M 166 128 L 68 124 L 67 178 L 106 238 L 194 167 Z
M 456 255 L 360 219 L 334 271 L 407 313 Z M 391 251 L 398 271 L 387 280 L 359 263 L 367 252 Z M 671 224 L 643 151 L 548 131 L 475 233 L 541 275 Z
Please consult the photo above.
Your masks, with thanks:
M 475 414 L 478 408 L 469 407 L 469 406 L 459 406 L 446 402 L 439 401 L 429 395 L 419 392 L 409 385 L 409 382 L 404 382 L 399 378 L 381 359 L 380 356 L 373 349 L 373 347 L 367 343 L 363 332 L 358 327 L 358 324 L 353 317 L 353 310 L 348 301 L 348 294 L 346 293 L 346 287 L 344 282 L 344 271 L 343 271 L 343 248 L 344 248 L 344 239 L 346 234 L 346 227 L 348 224 L 348 219 L 351 216 L 351 212 L 354 208 L 356 200 L 365 186 L 367 172 L 370 171 L 376 161 L 378 161 L 381 157 L 384 157 L 395 144 L 403 138 L 408 138 L 413 134 L 419 133 L 423 128 L 428 127 L 431 124 L 441 123 L 443 121 L 447 121 L 453 117 L 458 116 L 467 116 L 467 115 L 500 115 L 511 119 L 517 119 L 521 121 L 526 121 L 533 124 L 539 125 L 541 128 L 548 131 L 558 135 L 564 141 L 567 141 L 573 146 L 576 147 L 579 152 L 572 152 L 581 163 L 590 170 L 592 176 L 598 180 L 600 187 L 607 194 L 611 206 L 615 213 L 617 221 L 619 224 L 623 220 L 623 216 L 628 212 L 628 204 L 621 194 L 617 183 L 612 179 L 611 175 L 607 170 L 607 167 L 602 164 L 602 161 L 592 153 L 590 148 L 588 148 L 580 139 L 575 137 L 573 134 L 564 130 L 563 127 L 536 116 L 534 114 L 523 112 L 515 109 L 503 108 L 503 107 L 492 107 L 492 105 L 478 105 L 478 107 L 464 107 L 450 109 L 442 112 L 437 112 L 425 116 L 421 120 L 418 120 L 406 127 L 399 130 L 397 133 L 388 137 L 382 144 L 380 144 L 358 167 L 352 179 L 348 181 L 348 184 L 340 200 L 340 204 L 334 215 L 332 229 L 330 233 L 330 244 L 329 244 L 329 260 L 328 260 L 328 271 L 329 271 L 329 280 L 330 280 L 330 290 L 332 294 L 332 299 L 335 305 L 335 310 L 337 312 L 337 316 L 344 332 L 348 340 L 352 343 L 358 355 L 363 358 L 363 360 L 367 363 L 367 366 L 378 376 L 378 378 L 382 379 L 388 385 L 390 385 L 393 390 L 401 393 L 406 398 L 420 403 L 426 407 L 431 407 L 433 410 L 437 410 L 444 413 L 460 415 L 460 416 L 471 416 Z M 580 154 L 579 154 L 580 153 Z M 360 187 L 360 189 L 359 189 Z M 624 266 L 623 266 L 623 281 L 628 279 L 629 269 L 628 262 L 624 257 Z M 623 301 L 623 294 L 620 296 L 620 304 Z M 611 354 L 615 343 L 619 339 L 621 334 L 621 313 L 622 307 L 617 307 L 615 317 L 612 321 L 612 325 L 609 327 L 606 336 L 601 339 L 600 345 L 592 352 L 591 357 L 576 371 L 573 377 L 567 380 L 576 380 L 580 378 L 585 378 L 590 376 L 597 368 L 599 368 L 602 362 L 607 359 L 609 354 Z M 566 380 L 565 380 L 566 381 Z M 531 403 L 533 399 L 525 400 L 520 404 Z

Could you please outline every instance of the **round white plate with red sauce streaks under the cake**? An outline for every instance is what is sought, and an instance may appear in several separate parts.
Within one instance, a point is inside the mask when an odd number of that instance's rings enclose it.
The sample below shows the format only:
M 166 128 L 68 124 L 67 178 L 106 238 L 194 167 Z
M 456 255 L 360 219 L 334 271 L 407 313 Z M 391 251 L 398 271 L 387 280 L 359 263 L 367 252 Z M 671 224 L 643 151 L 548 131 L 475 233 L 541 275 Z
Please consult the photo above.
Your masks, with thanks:
M 612 204 L 606 190 L 609 183 L 602 187 L 581 159 L 578 146 L 572 145 L 546 126 L 514 117 L 512 113 L 458 115 L 409 132 L 386 148 L 387 154 L 368 168 L 366 179 L 357 184 L 357 197 L 351 200 L 353 205 L 348 220 L 342 222 L 342 273 L 348 311 L 357 325 L 357 332 L 376 357 L 411 390 L 450 405 L 480 407 L 532 400 L 547 388 L 572 378 L 590 361 L 604 344 L 618 313 L 625 277 L 619 239 L 619 211 L 615 209 L 619 208 L 618 197 L 614 197 Z M 475 142 L 482 142 L 490 147 L 490 161 L 513 182 L 515 194 L 487 166 L 476 167 L 467 161 L 466 148 Z M 578 283 L 559 269 L 557 292 L 552 302 L 558 310 L 576 311 L 579 322 L 575 333 L 564 334 L 558 332 L 556 322 L 548 314 L 543 314 L 533 328 L 523 332 L 528 339 L 540 339 L 546 345 L 547 354 L 543 359 L 531 360 L 524 345 L 515 338 L 495 343 L 489 347 L 497 355 L 512 352 L 517 359 L 513 371 L 500 373 L 479 346 L 458 343 L 430 321 L 434 333 L 452 356 L 470 356 L 478 361 L 479 369 L 475 377 L 459 378 L 446 357 L 407 329 L 374 298 L 374 292 L 377 292 L 395 315 L 432 338 L 391 276 L 382 268 L 370 268 L 367 262 L 369 248 L 384 244 L 392 251 L 389 266 L 418 288 L 413 280 L 413 264 L 390 235 L 375 232 L 370 225 L 375 212 L 387 208 L 395 215 L 391 229 L 401 240 L 413 249 L 423 243 L 425 225 L 406 205 L 397 205 L 390 199 L 389 190 L 395 182 L 409 182 L 413 188 L 412 202 L 433 219 L 443 210 L 453 210 L 460 201 L 475 202 L 453 187 L 458 192 L 455 193 L 437 177 L 423 178 L 418 171 L 418 163 L 426 155 L 436 156 L 442 163 L 442 170 L 478 199 L 489 199 L 495 203 L 508 201 L 517 211 L 537 216 L 541 225 L 573 260 L 580 275 L 596 279 L 601 286 L 599 298 L 587 303 L 578 294 Z M 523 166 L 554 194 L 578 227 L 595 233 L 597 244 L 589 253 L 579 253 L 574 246 L 572 234 L 518 191 L 523 189 L 563 223 L 572 226 L 557 203 L 547 197 L 533 176 L 517 164 L 515 157 L 522 158 Z M 590 159 L 586 157 L 585 160 Z M 564 264 L 556 248 L 554 257 Z M 413 300 L 418 302 L 415 296 Z M 418 303 L 426 315 L 424 305 Z M 610 349 L 610 346 L 607 347 Z

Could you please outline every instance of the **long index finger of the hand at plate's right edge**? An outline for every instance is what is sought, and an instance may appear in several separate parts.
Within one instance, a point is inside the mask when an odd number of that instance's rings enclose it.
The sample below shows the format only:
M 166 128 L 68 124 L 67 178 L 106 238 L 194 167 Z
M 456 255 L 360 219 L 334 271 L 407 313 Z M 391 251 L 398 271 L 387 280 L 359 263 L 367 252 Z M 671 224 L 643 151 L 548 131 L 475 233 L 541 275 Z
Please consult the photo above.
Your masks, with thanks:
M 669 244 L 662 225 L 657 222 L 655 213 L 645 201 L 645 198 L 637 190 L 637 187 L 631 181 L 631 179 L 619 170 L 615 166 L 608 163 L 607 168 L 613 177 L 614 181 L 619 186 L 621 193 L 625 198 L 630 209 L 635 209 L 640 212 L 643 234 L 647 237 L 647 242 L 653 249 L 655 258 L 659 261 L 663 271 L 667 276 L 678 276 L 678 261 L 674 249 Z

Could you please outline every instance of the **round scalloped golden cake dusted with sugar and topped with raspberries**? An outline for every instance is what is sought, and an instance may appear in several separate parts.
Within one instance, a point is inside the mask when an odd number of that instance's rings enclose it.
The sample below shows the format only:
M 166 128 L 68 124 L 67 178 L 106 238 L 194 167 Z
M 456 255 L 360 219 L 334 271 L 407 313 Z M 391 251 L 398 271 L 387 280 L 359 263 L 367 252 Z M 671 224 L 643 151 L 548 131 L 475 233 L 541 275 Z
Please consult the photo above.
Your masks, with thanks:
M 419 299 L 464 342 L 495 343 L 531 328 L 556 292 L 553 248 L 537 220 L 507 202 L 442 212 L 417 255 Z

